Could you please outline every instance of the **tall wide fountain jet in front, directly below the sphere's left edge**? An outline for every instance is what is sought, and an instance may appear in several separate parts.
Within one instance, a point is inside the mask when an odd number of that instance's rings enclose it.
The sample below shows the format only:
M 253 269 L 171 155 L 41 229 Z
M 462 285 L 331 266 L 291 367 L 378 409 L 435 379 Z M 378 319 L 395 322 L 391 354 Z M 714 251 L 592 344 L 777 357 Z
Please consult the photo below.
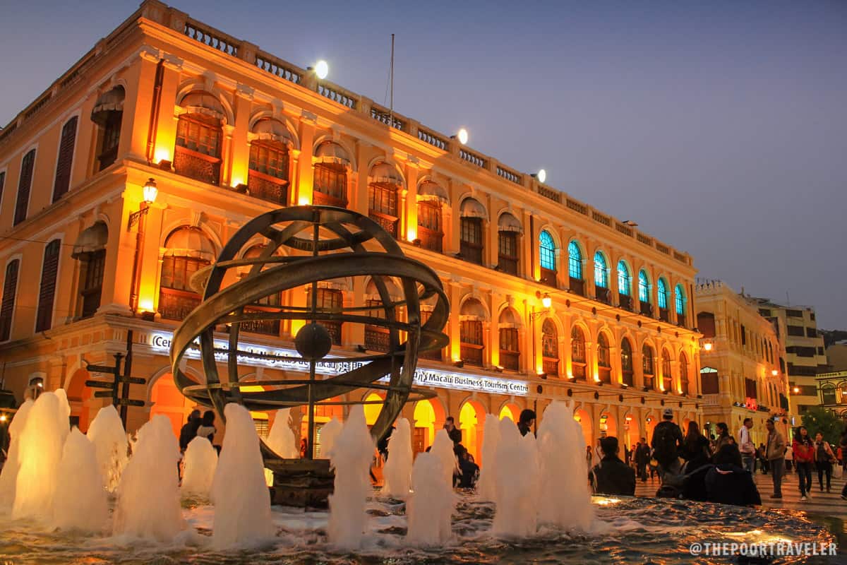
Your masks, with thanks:
M 259 436 L 240 404 L 227 404 L 224 418 L 226 435 L 212 482 L 212 544 L 218 549 L 257 546 L 275 533 Z

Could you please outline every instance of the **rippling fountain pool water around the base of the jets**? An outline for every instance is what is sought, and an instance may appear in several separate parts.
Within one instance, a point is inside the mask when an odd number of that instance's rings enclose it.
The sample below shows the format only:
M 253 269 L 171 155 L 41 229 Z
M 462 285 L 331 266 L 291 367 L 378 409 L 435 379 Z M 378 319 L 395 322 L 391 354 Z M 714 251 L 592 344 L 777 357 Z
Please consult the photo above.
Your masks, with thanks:
M 256 551 L 216 551 L 213 507 L 186 506 L 185 521 L 197 533 L 166 544 L 126 545 L 108 536 L 48 531 L 28 520 L 0 517 L 0 562 L 39 563 L 494 563 L 494 562 L 662 562 L 727 563 L 726 557 L 689 554 L 691 543 L 792 540 L 834 543 L 823 525 L 797 512 L 725 507 L 688 501 L 594 497 L 595 532 L 568 536 L 541 525 L 539 534 L 501 540 L 491 534 L 494 506 L 473 494 L 459 496 L 452 539 L 438 548 L 416 549 L 405 539 L 405 504 L 372 491 L 367 531 L 355 555 L 327 540 L 327 512 L 274 507 L 276 537 Z M 735 524 L 735 525 L 730 525 Z M 779 563 L 840 562 L 839 557 L 786 557 Z

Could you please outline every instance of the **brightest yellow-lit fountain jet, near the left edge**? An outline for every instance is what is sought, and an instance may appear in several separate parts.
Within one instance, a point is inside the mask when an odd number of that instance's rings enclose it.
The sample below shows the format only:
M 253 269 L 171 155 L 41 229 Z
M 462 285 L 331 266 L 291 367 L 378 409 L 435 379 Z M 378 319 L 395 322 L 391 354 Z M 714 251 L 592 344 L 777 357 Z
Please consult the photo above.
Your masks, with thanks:
M 42 392 L 27 415 L 20 435 L 18 479 L 14 490 L 13 518 L 49 518 L 58 486 L 69 422 L 53 392 Z M 23 479 L 25 478 L 25 479 Z

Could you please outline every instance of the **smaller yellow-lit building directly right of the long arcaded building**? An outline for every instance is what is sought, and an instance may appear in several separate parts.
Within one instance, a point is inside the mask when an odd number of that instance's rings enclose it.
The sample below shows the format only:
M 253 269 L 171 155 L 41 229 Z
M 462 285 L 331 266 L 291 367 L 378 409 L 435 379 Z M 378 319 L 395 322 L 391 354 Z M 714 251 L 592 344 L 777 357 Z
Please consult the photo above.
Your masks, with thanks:
M 756 445 L 767 437 L 765 421 L 776 418 L 785 437 L 794 425 L 789 409 L 785 346 L 774 324 L 756 306 L 720 280 L 695 287 L 697 327 L 703 334 L 700 384 L 703 418 L 711 434 L 719 422 L 733 434 L 753 418 Z

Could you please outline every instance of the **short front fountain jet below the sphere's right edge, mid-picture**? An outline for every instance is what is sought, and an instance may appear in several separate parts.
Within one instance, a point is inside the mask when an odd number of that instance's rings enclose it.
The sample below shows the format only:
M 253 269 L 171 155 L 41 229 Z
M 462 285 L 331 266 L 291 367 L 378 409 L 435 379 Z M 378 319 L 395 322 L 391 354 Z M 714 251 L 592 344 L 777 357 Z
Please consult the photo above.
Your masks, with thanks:
M 443 463 L 437 455 L 418 454 L 412 469 L 414 491 L 406 504 L 406 539 L 412 545 L 438 546 L 450 540 L 451 518 L 458 499 L 451 481 L 445 480 Z

